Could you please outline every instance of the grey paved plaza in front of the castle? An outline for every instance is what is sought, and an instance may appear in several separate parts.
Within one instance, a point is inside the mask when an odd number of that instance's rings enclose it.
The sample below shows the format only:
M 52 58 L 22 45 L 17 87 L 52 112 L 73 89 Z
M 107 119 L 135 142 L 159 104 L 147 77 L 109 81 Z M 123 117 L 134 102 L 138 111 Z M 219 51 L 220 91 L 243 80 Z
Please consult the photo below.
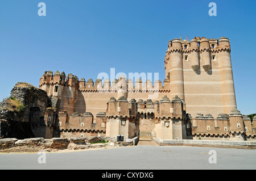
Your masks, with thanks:
M 216 163 L 209 163 L 210 150 Z M 256 150 L 249 149 L 138 145 L 45 155 L 46 163 L 39 163 L 38 153 L 2 153 L 0 169 L 256 169 Z

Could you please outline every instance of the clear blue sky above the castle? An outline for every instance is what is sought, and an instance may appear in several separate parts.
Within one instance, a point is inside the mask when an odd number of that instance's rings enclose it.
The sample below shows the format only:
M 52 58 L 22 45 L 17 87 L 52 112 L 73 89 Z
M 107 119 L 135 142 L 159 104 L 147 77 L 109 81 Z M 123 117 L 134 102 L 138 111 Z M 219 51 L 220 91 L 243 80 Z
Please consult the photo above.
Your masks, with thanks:
M 46 16 L 38 16 L 38 3 Z M 217 16 L 209 16 L 210 2 Z M 256 1 L 1 0 L 0 100 L 16 82 L 39 85 L 44 71 L 86 81 L 100 72 L 159 73 L 169 40 L 228 37 L 237 107 L 256 113 Z

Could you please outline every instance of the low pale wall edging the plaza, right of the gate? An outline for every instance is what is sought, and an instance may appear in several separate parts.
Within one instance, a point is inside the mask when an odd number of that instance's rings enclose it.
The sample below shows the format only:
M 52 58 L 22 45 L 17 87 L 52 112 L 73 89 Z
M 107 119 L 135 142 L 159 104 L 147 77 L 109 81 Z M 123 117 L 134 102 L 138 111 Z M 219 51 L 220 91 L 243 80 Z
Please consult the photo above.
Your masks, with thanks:
M 159 140 L 153 138 L 160 146 L 200 146 L 214 148 L 256 149 L 256 141 L 216 141 L 216 140 Z

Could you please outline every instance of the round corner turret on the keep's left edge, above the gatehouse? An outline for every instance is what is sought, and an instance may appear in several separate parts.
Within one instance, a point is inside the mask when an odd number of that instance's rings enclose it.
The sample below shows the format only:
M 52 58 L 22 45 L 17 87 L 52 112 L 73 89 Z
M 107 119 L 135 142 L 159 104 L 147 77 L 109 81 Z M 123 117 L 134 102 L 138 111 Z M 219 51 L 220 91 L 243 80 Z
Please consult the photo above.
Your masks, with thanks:
M 170 52 L 169 59 L 166 65 L 167 77 L 170 78 L 170 96 L 175 95 L 184 99 L 184 79 L 183 79 L 183 53 L 181 41 L 174 39 L 168 44 Z

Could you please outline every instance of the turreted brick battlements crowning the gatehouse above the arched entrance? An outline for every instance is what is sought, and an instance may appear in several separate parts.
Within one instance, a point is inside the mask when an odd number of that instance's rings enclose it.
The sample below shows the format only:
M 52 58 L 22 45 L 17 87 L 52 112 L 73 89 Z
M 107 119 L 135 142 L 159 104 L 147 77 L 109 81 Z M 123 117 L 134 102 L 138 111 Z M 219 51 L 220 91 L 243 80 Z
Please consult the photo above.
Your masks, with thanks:
M 138 115 L 143 117 L 156 119 L 184 119 L 186 117 L 184 105 L 184 100 L 181 100 L 178 96 L 175 96 L 172 100 L 164 96 L 161 100 L 156 100 L 154 103 L 151 99 L 146 101 L 139 99 L 137 102 L 135 99 L 128 101 L 123 96 L 118 100 L 112 97 L 107 103 L 106 115 L 107 117 L 133 117 L 137 116 L 138 113 Z

